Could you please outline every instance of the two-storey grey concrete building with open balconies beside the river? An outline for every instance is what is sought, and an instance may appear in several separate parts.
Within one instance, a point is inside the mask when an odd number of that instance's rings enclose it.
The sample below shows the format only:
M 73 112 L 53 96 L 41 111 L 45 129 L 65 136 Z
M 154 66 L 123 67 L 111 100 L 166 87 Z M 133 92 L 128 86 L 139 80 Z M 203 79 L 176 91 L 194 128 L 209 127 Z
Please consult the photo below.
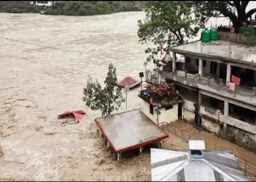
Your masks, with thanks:
M 219 37 L 171 47 L 173 59 L 158 71 L 183 96 L 183 119 L 256 150 L 256 46 Z M 235 91 L 229 88 L 232 75 L 241 78 Z

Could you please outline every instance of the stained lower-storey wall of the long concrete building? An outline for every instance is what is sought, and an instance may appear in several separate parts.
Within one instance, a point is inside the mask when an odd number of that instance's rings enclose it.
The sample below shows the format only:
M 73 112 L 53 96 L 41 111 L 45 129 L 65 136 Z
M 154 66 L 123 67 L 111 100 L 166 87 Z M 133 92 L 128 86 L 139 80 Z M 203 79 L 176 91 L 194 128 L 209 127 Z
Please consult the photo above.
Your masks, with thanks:
M 205 94 L 205 92 L 203 93 Z M 214 95 L 208 95 L 214 97 Z M 220 98 L 218 98 L 220 99 Z M 195 106 L 192 101 L 184 100 L 184 112 L 183 118 L 186 121 L 190 121 L 192 124 L 195 120 Z M 200 106 L 200 116 L 202 119 L 202 127 L 209 132 L 213 132 L 216 135 L 220 135 L 221 132 L 225 132 L 225 135 L 221 137 L 243 146 L 246 149 L 256 151 L 256 126 L 242 122 L 238 119 L 234 119 L 230 116 L 224 116 L 223 113 L 217 111 L 211 111 L 208 108 Z M 221 129 L 221 124 L 227 124 L 227 130 Z

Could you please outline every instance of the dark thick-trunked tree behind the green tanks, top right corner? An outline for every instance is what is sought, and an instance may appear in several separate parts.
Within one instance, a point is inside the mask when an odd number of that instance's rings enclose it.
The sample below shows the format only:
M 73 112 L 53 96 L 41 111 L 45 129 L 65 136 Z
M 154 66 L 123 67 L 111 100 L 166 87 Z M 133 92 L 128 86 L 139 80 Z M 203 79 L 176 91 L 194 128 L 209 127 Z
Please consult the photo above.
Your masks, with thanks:
M 249 1 L 195 1 L 197 12 L 204 18 L 228 17 L 238 32 L 243 22 L 249 23 L 249 18 L 256 12 L 256 8 L 246 11 Z

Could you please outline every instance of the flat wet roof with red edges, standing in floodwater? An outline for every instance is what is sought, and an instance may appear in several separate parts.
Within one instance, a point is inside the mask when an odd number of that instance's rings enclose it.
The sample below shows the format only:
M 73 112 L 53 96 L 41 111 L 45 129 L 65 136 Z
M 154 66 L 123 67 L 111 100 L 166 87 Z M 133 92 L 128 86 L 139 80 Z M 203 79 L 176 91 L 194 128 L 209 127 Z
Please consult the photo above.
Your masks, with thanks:
M 97 118 L 95 122 L 116 152 L 137 149 L 169 137 L 140 109 Z

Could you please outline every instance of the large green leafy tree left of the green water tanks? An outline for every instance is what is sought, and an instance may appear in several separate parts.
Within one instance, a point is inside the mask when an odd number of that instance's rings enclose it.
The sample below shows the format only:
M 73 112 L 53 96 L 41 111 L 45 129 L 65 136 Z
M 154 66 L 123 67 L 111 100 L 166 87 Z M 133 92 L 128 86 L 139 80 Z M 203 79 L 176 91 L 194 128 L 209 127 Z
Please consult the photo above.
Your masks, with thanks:
M 203 18 L 200 13 L 195 14 L 193 1 L 146 1 L 146 19 L 138 21 L 139 42 L 153 42 L 155 45 L 184 44 L 193 36 L 196 36 L 203 26 Z M 164 49 L 168 51 L 167 48 Z M 151 53 L 147 60 L 157 63 L 156 56 L 160 47 L 148 48 L 146 53 Z

